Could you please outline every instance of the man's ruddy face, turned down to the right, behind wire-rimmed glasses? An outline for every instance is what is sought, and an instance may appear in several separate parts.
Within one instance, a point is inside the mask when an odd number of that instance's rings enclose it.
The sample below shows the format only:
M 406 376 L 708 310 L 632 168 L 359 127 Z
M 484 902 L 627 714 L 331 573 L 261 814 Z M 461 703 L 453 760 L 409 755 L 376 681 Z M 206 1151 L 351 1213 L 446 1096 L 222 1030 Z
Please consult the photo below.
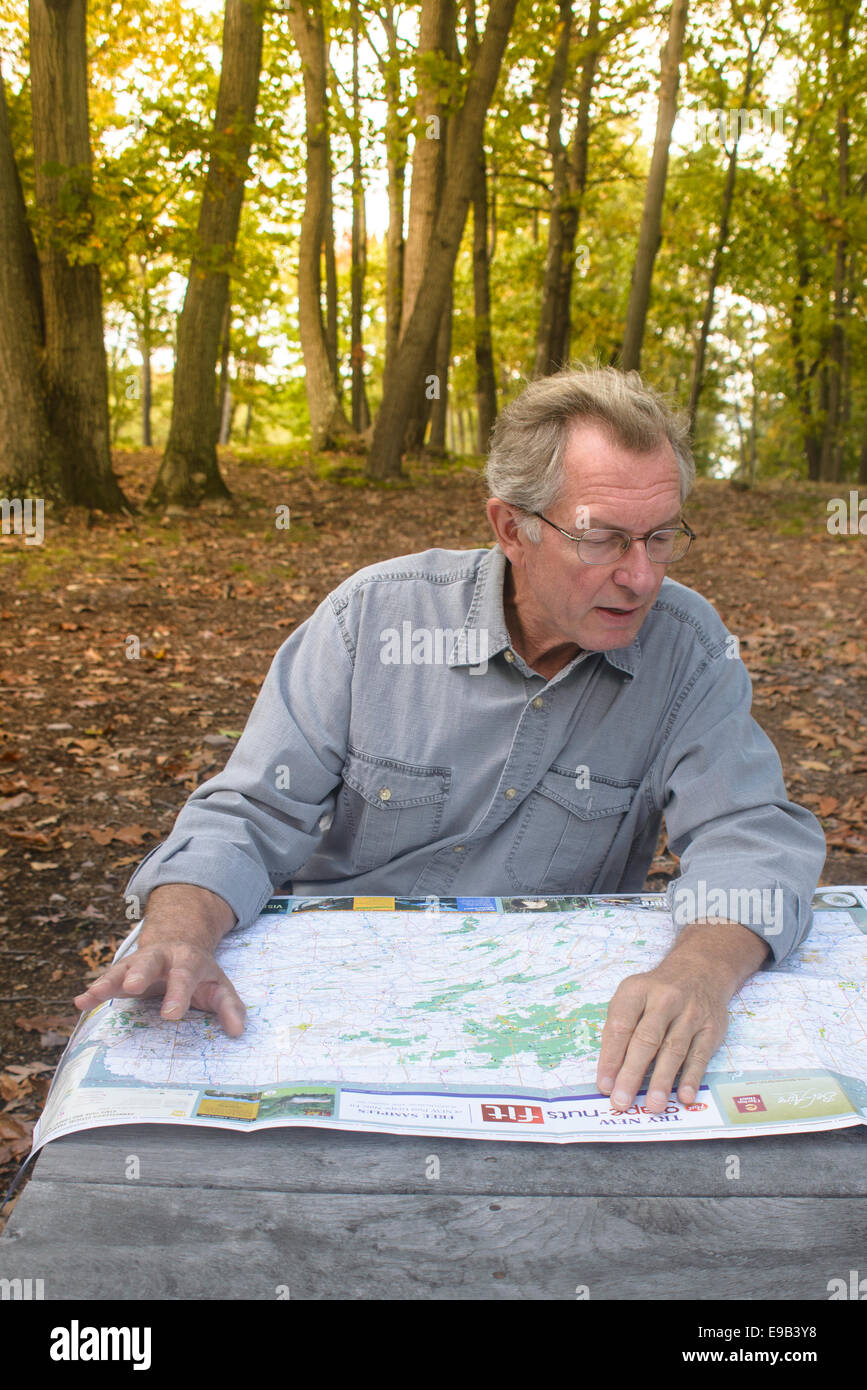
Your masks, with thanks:
M 577 423 L 564 453 L 564 492 L 546 516 L 572 535 L 586 527 L 643 535 L 679 520 L 679 475 L 668 441 L 636 455 L 599 425 Z M 524 628 L 538 642 L 550 638 L 552 646 L 575 642 L 589 652 L 628 646 L 656 602 L 666 567 L 647 560 L 641 541 L 611 564 L 585 564 L 574 541 L 545 521 L 539 527 L 538 545 L 518 532 L 515 549 L 507 550 Z

